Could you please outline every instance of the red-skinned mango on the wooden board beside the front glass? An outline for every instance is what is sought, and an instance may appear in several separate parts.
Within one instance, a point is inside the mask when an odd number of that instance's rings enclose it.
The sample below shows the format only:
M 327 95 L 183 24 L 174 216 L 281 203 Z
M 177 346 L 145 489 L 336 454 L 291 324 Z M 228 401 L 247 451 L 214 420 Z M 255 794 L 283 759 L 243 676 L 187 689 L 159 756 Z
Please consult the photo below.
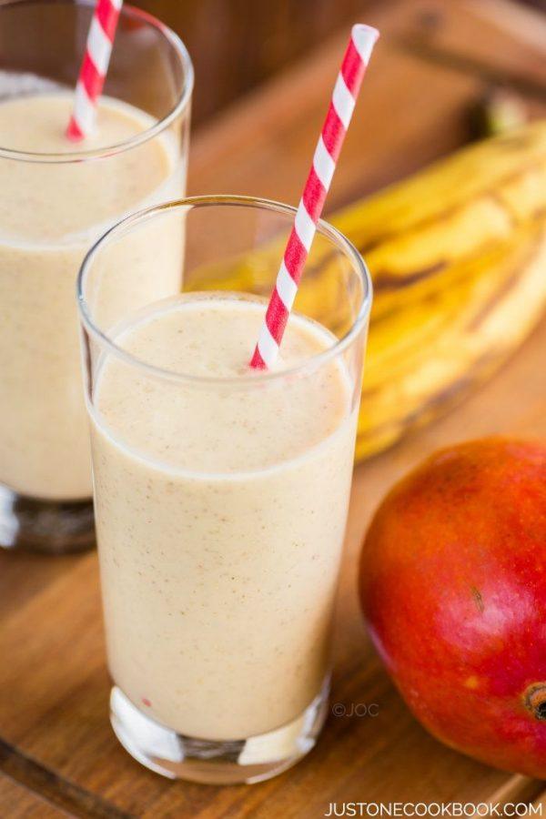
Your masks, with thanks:
M 359 591 L 420 723 L 546 779 L 546 445 L 492 438 L 426 460 L 376 512 Z

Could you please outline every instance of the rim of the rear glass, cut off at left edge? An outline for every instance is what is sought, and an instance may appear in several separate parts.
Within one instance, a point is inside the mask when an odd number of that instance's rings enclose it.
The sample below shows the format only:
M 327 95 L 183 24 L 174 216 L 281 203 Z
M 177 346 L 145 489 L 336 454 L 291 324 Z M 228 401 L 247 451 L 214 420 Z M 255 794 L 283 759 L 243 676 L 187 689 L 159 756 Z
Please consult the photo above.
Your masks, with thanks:
M 84 5 L 89 8 L 94 8 L 94 0 L 8 0 L 6 3 L 0 3 L 0 15 L 5 9 L 16 8 L 23 5 L 35 5 L 36 7 L 43 7 L 45 5 Z M 156 16 L 149 14 L 142 9 L 136 8 L 134 5 L 124 3 L 121 6 L 120 17 L 128 17 L 129 19 L 137 19 L 141 23 L 146 23 L 157 29 L 157 31 L 167 40 L 171 45 L 181 66 L 184 69 L 184 85 L 177 96 L 177 102 L 165 116 L 162 116 L 153 126 L 147 127 L 144 131 L 131 136 L 122 142 L 116 142 L 113 145 L 106 145 L 99 148 L 87 148 L 83 150 L 70 151 L 69 153 L 48 153 L 39 151 L 20 151 L 16 148 L 6 148 L 0 145 L 0 158 L 15 159 L 19 162 L 35 162 L 42 164 L 66 164 L 71 162 L 83 162 L 86 160 L 101 159 L 103 157 L 112 157 L 116 154 L 123 153 L 126 150 L 144 144 L 154 136 L 163 133 L 168 126 L 170 126 L 187 108 L 191 99 L 191 94 L 194 87 L 194 67 L 191 57 L 187 51 L 186 45 L 182 42 L 180 37 L 165 23 L 162 23 Z M 114 46 L 116 47 L 116 46 Z M 83 56 L 83 55 L 82 55 Z M 16 96 L 21 98 L 24 95 Z

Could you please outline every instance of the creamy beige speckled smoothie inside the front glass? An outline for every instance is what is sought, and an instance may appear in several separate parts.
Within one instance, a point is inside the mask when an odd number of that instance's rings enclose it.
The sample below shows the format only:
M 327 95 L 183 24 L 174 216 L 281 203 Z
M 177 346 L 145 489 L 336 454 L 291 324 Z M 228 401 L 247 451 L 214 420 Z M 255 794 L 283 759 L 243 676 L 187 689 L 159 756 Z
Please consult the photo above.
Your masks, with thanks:
M 263 315 L 235 294 L 151 308 L 117 345 L 187 378 L 104 353 L 89 407 L 112 677 L 210 740 L 289 723 L 329 669 L 355 410 L 340 357 L 248 369 Z M 292 316 L 278 369 L 331 344 Z

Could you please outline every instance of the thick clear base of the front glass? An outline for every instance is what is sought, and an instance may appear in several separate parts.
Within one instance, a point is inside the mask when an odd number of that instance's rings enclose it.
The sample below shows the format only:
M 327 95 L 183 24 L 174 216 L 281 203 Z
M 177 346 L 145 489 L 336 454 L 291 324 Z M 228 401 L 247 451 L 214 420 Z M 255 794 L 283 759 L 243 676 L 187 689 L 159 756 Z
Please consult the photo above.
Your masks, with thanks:
M 204 784 L 251 784 L 286 771 L 317 742 L 328 713 L 329 680 L 308 708 L 276 731 L 241 740 L 183 736 L 139 711 L 117 686 L 110 693 L 110 722 L 137 762 L 169 779 Z

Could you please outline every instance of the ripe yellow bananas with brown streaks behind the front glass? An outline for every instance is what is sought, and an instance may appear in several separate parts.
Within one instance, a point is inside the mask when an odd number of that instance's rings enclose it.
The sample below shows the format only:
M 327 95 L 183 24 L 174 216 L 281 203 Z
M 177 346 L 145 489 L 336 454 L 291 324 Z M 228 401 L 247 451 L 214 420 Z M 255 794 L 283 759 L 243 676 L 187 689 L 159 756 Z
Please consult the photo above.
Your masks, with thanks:
M 488 377 L 546 304 L 546 122 L 442 160 L 330 218 L 374 283 L 357 460 Z M 317 243 L 316 243 L 317 244 Z M 217 270 L 219 289 L 268 295 L 278 242 Z M 332 315 L 336 259 L 313 248 L 296 308 Z M 207 287 L 214 271 L 207 269 Z M 199 275 L 191 282 L 199 288 Z

